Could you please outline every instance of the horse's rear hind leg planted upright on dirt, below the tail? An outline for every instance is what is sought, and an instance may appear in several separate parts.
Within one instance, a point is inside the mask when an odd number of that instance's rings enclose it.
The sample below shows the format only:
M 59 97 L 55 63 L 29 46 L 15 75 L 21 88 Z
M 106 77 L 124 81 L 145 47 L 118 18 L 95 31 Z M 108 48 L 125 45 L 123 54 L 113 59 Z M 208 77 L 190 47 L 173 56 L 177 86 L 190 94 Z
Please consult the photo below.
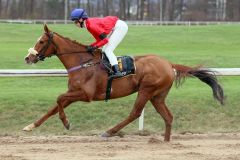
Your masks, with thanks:
M 165 130 L 164 141 L 170 141 L 173 116 L 165 104 L 165 97 L 166 96 L 163 96 L 161 94 L 153 97 L 150 101 L 154 106 L 154 108 L 156 109 L 156 111 L 163 117 L 165 121 L 166 130 Z

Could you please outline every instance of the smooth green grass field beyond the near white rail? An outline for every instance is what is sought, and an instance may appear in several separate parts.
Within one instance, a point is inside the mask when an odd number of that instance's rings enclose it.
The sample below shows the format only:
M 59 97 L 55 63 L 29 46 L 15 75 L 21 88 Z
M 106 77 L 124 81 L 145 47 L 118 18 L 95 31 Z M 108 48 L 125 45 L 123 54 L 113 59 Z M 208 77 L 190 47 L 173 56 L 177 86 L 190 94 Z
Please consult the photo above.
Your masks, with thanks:
M 53 31 L 84 44 L 92 36 L 73 25 L 49 25 Z M 208 67 L 240 67 L 239 26 L 130 26 L 117 55 L 154 53 L 174 63 Z M 0 24 L 0 68 L 29 68 L 23 62 L 27 49 L 43 33 L 42 25 Z M 224 62 L 224 63 L 223 63 Z M 56 57 L 32 68 L 63 68 Z

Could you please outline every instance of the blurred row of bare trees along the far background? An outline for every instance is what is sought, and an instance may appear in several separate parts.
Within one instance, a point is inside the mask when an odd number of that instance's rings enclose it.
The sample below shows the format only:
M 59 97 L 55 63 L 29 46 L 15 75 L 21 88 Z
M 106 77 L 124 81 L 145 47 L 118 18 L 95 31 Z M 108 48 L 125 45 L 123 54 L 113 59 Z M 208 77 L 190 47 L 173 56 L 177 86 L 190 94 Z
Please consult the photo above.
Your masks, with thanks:
M 0 0 L 1 18 L 63 19 L 65 0 Z M 67 0 L 92 16 L 124 20 L 240 20 L 240 0 Z

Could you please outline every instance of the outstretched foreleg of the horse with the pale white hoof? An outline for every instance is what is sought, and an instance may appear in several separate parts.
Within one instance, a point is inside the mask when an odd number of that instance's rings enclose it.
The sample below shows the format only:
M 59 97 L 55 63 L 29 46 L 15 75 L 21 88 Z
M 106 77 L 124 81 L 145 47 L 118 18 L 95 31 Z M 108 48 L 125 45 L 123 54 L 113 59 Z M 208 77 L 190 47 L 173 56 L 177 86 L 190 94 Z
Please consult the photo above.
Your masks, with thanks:
M 65 101 L 63 103 L 64 108 L 71 104 L 71 101 Z M 58 105 L 55 105 L 52 109 L 50 109 L 47 114 L 43 115 L 39 120 L 36 122 L 26 126 L 23 128 L 23 131 L 32 131 L 34 128 L 39 127 L 43 122 L 45 122 L 49 117 L 55 115 L 58 112 Z

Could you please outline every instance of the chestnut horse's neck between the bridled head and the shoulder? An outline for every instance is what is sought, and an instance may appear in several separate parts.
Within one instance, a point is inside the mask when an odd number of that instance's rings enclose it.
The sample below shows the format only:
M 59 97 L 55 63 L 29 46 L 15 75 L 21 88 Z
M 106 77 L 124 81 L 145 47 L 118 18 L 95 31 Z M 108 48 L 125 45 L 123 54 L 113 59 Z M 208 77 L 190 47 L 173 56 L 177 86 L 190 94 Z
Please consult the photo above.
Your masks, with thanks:
M 60 36 L 57 36 L 55 43 L 58 46 L 58 58 L 66 69 L 79 66 L 91 59 L 99 60 L 101 58 L 100 51 L 97 51 L 93 57 L 86 52 L 86 46 Z

